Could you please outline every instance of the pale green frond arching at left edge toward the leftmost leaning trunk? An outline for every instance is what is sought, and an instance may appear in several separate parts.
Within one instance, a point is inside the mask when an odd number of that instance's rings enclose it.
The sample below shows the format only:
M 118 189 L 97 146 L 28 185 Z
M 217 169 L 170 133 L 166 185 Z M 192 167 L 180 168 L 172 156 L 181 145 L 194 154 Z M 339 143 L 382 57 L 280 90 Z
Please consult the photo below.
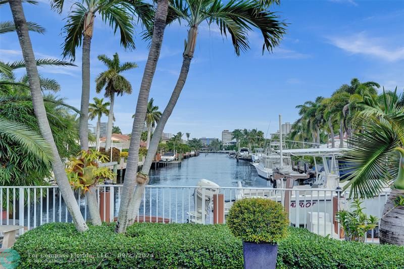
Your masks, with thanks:
M 20 123 L 0 117 L 0 134 L 8 136 L 23 145 L 27 151 L 43 160 L 43 162 L 51 162 L 53 159 L 51 146 L 42 136 Z

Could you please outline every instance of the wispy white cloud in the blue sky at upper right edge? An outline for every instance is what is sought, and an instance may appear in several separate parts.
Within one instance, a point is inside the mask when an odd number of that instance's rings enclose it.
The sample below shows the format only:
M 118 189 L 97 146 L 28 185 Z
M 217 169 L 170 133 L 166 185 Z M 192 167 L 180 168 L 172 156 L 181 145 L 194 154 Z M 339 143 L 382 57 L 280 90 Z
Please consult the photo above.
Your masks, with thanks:
M 404 60 L 404 46 L 387 48 L 382 45 L 383 39 L 368 37 L 365 32 L 328 39 L 334 46 L 352 54 L 372 56 L 388 62 Z

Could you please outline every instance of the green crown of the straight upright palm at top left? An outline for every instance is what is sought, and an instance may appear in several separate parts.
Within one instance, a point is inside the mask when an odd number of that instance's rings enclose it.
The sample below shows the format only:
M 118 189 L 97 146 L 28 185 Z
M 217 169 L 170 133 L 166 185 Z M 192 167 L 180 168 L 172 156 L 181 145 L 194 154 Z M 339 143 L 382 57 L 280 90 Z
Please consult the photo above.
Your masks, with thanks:
M 54 0 L 51 3 L 53 9 L 62 12 L 64 0 Z M 133 16 L 138 18 L 145 27 L 149 27 L 154 18 L 154 11 L 150 4 L 142 0 L 85 0 L 76 2 L 71 7 L 63 28 L 65 41 L 63 42 L 63 57 L 69 57 L 73 61 L 76 56 L 76 48 L 81 45 L 84 25 L 87 16 L 98 14 L 101 19 L 109 24 L 114 33 L 119 29 L 121 45 L 127 49 L 135 48 L 133 39 Z M 90 23 L 91 27 L 93 21 Z

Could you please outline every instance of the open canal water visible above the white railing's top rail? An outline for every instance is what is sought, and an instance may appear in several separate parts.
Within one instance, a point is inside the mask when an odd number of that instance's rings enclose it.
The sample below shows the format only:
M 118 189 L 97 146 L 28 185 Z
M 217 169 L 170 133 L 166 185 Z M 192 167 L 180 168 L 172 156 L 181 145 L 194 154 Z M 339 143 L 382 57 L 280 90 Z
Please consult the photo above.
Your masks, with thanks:
M 199 180 L 207 179 L 221 187 L 266 187 L 267 181 L 258 176 L 254 166 L 248 162 L 229 158 L 227 154 L 201 153 L 178 164 L 150 171 L 149 185 L 196 186 Z

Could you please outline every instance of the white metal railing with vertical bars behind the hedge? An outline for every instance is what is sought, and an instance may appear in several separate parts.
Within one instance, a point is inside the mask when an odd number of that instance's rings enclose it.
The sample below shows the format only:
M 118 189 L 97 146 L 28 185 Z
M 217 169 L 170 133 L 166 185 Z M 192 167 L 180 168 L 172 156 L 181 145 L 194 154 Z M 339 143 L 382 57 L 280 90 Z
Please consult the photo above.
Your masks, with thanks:
M 194 195 L 195 188 L 197 195 Z M 118 216 L 121 192 L 122 185 L 97 187 L 98 206 L 103 221 L 113 222 Z M 223 194 L 224 199 L 216 208 L 213 203 L 215 193 Z M 365 213 L 380 218 L 388 195 L 389 191 L 386 191 L 372 199 L 365 199 Z M 79 191 L 75 191 L 75 196 L 84 219 L 88 221 L 90 218 L 85 196 Z M 201 197 L 206 197 L 205 202 Z M 225 222 L 231 204 L 243 197 L 265 197 L 286 204 L 285 210 L 291 225 L 335 238 L 340 238 L 341 232 L 335 220 L 335 212 L 349 210 L 351 201 L 348 192 L 329 189 L 149 185 L 145 188 L 136 221 L 214 224 L 215 220 L 222 219 Z M 219 216 L 219 212 L 223 216 Z M 72 222 L 58 186 L 0 187 L 0 225 L 24 226 L 20 230 L 22 234 L 25 230 L 51 222 Z M 375 231 L 371 231 L 367 240 L 377 241 Z

